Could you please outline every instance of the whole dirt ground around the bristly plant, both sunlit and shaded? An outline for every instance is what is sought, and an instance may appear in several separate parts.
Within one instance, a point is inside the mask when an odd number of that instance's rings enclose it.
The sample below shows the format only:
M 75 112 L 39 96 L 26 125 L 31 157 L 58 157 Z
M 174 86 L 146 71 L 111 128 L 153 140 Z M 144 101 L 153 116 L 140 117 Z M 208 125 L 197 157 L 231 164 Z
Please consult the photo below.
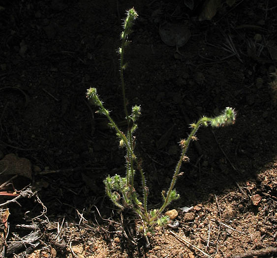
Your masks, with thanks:
M 276 2 L 222 0 L 210 21 L 198 19 L 203 1 L 192 11 L 189 2 L 0 1 L 2 257 L 277 257 Z M 156 227 L 149 247 L 136 214 L 105 196 L 104 178 L 124 174 L 124 151 L 85 97 L 96 87 L 125 129 L 116 49 L 133 6 L 126 94 L 142 108 L 136 150 L 150 208 L 188 124 L 225 107 L 238 114 L 199 130 L 168 207 L 179 227 Z M 159 32 L 180 23 L 178 53 Z

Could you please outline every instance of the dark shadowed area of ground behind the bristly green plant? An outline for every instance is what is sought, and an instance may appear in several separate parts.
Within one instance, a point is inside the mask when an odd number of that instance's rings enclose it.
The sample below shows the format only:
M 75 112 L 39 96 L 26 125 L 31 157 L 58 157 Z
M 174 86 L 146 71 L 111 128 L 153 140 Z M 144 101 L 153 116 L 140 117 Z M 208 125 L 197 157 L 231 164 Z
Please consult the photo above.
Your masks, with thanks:
M 31 161 L 32 183 L 50 217 L 74 217 L 75 208 L 92 204 L 101 214 L 111 212 L 102 182 L 124 174 L 124 151 L 85 94 L 96 87 L 124 129 L 116 50 L 125 10 L 133 6 L 139 18 L 126 56 L 126 95 L 129 108 L 142 108 L 136 149 L 150 207 L 170 183 L 188 123 L 228 106 L 238 113 L 236 124 L 215 129 L 215 136 L 210 128 L 199 130 L 199 145 L 190 146 L 190 163 L 176 185 L 181 199 L 172 205 L 209 201 L 246 180 L 259 184 L 259 172 L 277 153 L 277 95 L 270 85 L 276 8 L 272 1 L 223 3 L 211 21 L 200 22 L 204 7 L 197 3 L 194 10 L 181 0 L 1 3 L 0 153 Z M 161 40 L 165 23 L 189 29 L 182 55 Z M 276 184 L 268 188 L 276 196 Z M 22 217 L 24 209 L 17 212 Z

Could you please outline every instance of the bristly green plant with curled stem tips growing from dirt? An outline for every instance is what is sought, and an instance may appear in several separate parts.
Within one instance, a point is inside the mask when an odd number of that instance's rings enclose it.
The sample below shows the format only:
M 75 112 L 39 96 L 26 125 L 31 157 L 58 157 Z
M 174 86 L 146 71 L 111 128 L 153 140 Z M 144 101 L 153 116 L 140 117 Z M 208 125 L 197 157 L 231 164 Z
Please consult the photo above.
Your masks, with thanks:
M 224 126 L 228 124 L 233 124 L 235 122 L 236 113 L 232 108 L 226 108 L 221 115 L 216 117 L 206 117 L 203 116 L 196 123 L 190 124 L 191 132 L 188 137 L 181 140 L 181 157 L 177 162 L 177 166 L 172 176 L 170 186 L 166 193 L 162 193 L 163 203 L 158 209 L 148 210 L 147 200 L 149 195 L 149 189 L 146 184 L 146 178 L 142 169 L 142 161 L 135 154 L 135 137 L 133 136 L 137 128 L 137 120 L 141 115 L 141 107 L 135 105 L 132 107 L 130 113 L 127 110 L 127 101 L 125 96 L 125 83 L 123 77 L 123 71 L 126 68 L 126 63 L 124 62 L 124 53 L 127 45 L 129 44 L 128 36 L 132 32 L 132 26 L 134 20 L 138 17 L 137 12 L 134 8 L 127 11 L 126 19 L 123 22 L 123 32 L 121 33 L 122 45 L 118 52 L 120 55 L 120 78 L 121 87 L 123 95 L 123 108 L 127 121 L 127 131 L 123 133 L 122 130 L 117 126 L 110 112 L 104 107 L 103 101 L 99 98 L 96 88 L 91 87 L 87 90 L 87 98 L 92 101 L 92 103 L 98 107 L 97 113 L 105 115 L 109 120 L 109 125 L 116 131 L 116 135 L 119 138 L 120 146 L 124 147 L 126 150 L 125 160 L 126 160 L 126 174 L 125 176 L 120 176 L 115 174 L 113 176 L 108 176 L 104 180 L 105 189 L 107 196 L 111 201 L 120 209 L 126 207 L 132 208 L 142 219 L 144 232 L 151 229 L 155 224 L 165 225 L 168 222 L 167 216 L 162 216 L 163 210 L 174 200 L 179 198 L 179 194 L 174 189 L 174 185 L 179 175 L 181 175 L 180 170 L 183 162 L 188 162 L 189 159 L 186 156 L 186 152 L 191 141 L 196 141 L 196 132 L 201 125 L 213 127 Z M 134 176 L 138 172 L 141 177 L 141 185 L 143 191 L 143 197 L 139 197 L 136 189 L 134 188 Z

